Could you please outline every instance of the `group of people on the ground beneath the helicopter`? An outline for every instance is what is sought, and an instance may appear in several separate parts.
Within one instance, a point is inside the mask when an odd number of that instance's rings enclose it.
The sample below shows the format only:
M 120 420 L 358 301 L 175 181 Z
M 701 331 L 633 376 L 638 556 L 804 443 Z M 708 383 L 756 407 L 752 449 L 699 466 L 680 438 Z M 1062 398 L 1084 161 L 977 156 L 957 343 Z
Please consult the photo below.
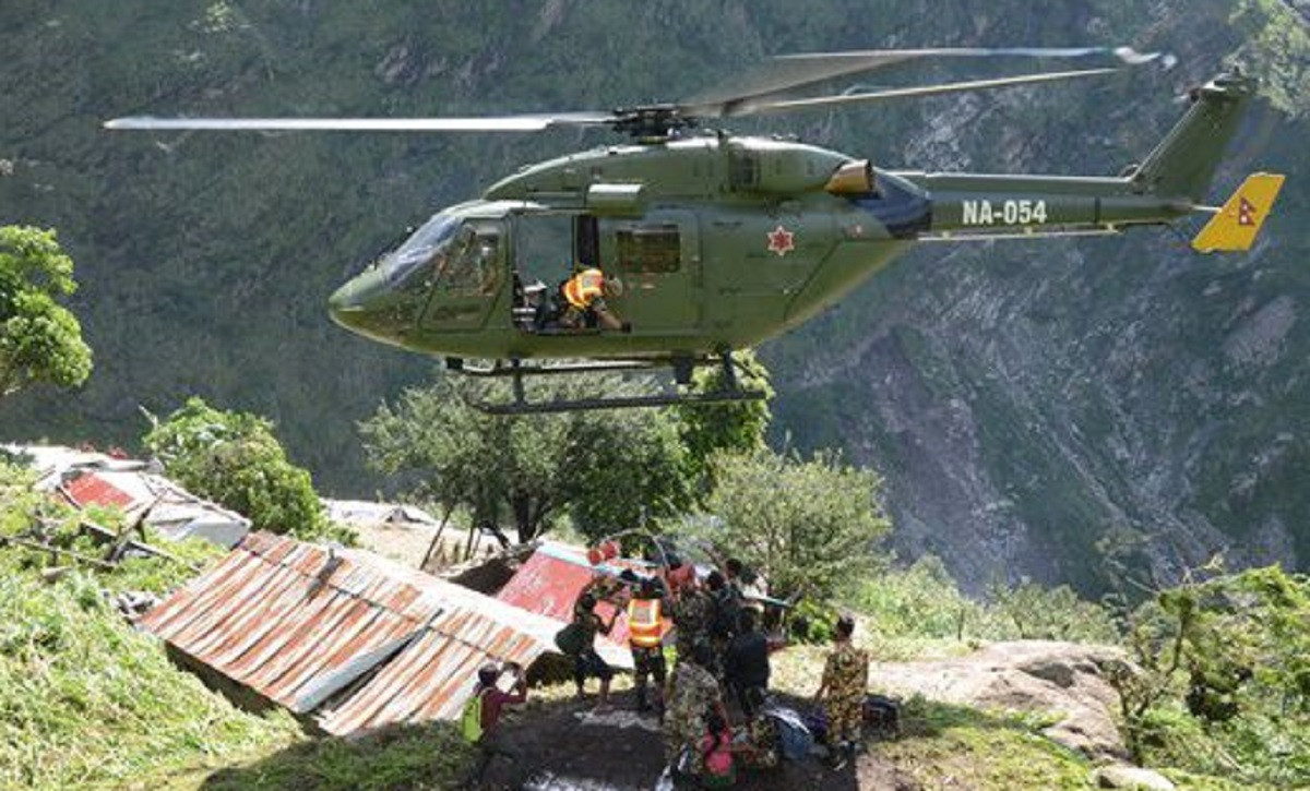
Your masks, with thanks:
M 595 711 L 610 707 L 614 671 L 596 650 L 596 636 L 612 633 L 620 613 L 627 616 L 637 710 L 660 719 L 669 773 L 694 777 L 702 786 L 735 782 L 738 770 L 768 770 L 783 758 L 779 723 L 789 710 L 770 705 L 769 655 L 782 647 L 762 631 L 762 606 L 752 596 L 753 575 L 738 561 L 698 579 L 676 559 L 660 574 L 597 575 L 578 595 L 571 623 L 557 642 L 571 655 L 579 699 L 591 678 L 600 682 Z M 596 612 L 609 601 L 607 619 Z M 665 622 L 672 629 L 665 629 Z M 829 758 L 834 767 L 853 758 L 861 744 L 869 656 L 853 643 L 854 619 L 837 621 L 815 701 L 827 719 Z M 569 633 L 567 644 L 563 634 Z M 675 665 L 668 672 L 665 648 L 672 642 Z M 465 710 L 465 735 L 482 739 L 507 705 L 527 699 L 523 673 L 514 669 L 512 689 L 498 686 L 500 668 L 478 673 L 474 701 Z M 654 681 L 654 685 L 651 684 Z M 734 727 L 734 714 L 739 723 Z M 793 719 L 795 712 L 790 712 Z

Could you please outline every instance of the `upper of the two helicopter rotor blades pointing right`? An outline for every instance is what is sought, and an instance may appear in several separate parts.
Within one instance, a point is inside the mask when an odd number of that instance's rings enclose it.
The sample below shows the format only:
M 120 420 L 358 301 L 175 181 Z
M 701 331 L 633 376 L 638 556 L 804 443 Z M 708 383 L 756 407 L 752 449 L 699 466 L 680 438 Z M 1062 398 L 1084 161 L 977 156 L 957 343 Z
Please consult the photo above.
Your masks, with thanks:
M 1131 47 L 945 47 L 929 50 L 863 50 L 852 52 L 810 52 L 772 58 L 724 86 L 702 93 L 679 105 L 684 115 L 720 118 L 744 115 L 757 103 L 768 105 L 770 97 L 814 85 L 824 80 L 887 68 L 909 60 L 927 58 L 1090 58 L 1110 56 L 1123 64 L 1136 65 L 1155 60 L 1158 52 L 1141 54 Z

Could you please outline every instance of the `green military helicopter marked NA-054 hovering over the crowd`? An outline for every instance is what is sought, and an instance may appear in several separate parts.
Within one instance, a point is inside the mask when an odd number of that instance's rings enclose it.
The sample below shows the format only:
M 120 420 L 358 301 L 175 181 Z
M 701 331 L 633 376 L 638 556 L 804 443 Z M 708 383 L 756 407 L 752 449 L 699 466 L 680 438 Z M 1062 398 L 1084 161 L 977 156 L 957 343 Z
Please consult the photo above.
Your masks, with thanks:
M 849 89 L 820 83 L 929 59 L 1043 58 L 1107 65 Z M 705 122 L 942 96 L 1106 75 L 1170 56 L 1127 47 L 866 50 L 776 56 L 686 102 L 609 111 L 474 118 L 118 118 L 111 130 L 533 132 L 608 127 L 624 143 L 521 168 L 481 198 L 431 216 L 329 299 L 333 320 L 365 338 L 441 356 L 449 371 L 512 377 L 494 414 L 761 398 L 734 351 L 834 305 L 920 241 L 975 242 L 1119 233 L 1210 215 L 1199 251 L 1248 249 L 1282 175 L 1246 178 L 1220 207 L 1209 182 L 1255 90 L 1238 69 L 1189 92 L 1189 107 L 1145 160 L 1114 177 L 892 170 L 786 138 L 740 136 Z M 558 262 L 566 261 L 565 267 Z M 605 278 L 622 322 L 561 322 L 567 282 Z M 617 284 L 617 285 L 616 285 Z M 477 364 L 476 361 L 481 363 Z M 664 368 L 677 385 L 719 365 L 710 392 L 531 401 L 524 378 Z

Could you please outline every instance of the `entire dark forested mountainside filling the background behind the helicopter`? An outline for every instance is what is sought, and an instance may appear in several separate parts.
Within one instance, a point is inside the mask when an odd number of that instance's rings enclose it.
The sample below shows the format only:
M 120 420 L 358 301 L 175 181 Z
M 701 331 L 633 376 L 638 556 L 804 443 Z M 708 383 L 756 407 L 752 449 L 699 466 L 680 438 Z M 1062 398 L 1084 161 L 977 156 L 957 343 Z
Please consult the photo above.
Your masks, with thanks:
M 1034 5 L 580 0 L 7 0 L 0 223 L 56 227 L 97 369 L 7 401 L 5 439 L 132 445 L 138 406 L 199 394 L 276 420 L 326 492 L 367 495 L 356 420 L 430 360 L 331 326 L 324 301 L 403 227 L 515 168 L 607 140 L 542 135 L 110 134 L 128 114 L 457 115 L 693 96 L 770 55 L 1132 45 L 1171 71 L 734 124 L 887 168 L 1114 174 L 1241 62 L 1263 98 L 1212 199 L 1289 174 L 1250 254 L 1182 236 L 924 245 L 761 350 L 774 439 L 887 478 L 905 557 L 963 583 L 1103 591 L 1225 551 L 1310 563 L 1310 299 L 1301 1 Z M 964 76 L 967 72 L 930 72 Z M 1186 233 L 1192 227 L 1182 229 Z

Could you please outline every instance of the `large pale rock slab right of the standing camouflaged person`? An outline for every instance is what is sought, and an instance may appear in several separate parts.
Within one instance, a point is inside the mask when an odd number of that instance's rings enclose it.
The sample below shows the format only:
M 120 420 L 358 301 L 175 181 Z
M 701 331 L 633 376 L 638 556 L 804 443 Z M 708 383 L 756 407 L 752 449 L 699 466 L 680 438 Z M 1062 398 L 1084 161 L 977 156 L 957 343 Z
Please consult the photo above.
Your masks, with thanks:
M 1119 694 L 1110 668 L 1125 661 L 1117 648 L 1022 640 L 993 643 L 955 659 L 875 663 L 870 684 L 892 695 L 982 710 L 1058 716 L 1049 739 L 1093 760 L 1127 760 L 1115 722 Z

